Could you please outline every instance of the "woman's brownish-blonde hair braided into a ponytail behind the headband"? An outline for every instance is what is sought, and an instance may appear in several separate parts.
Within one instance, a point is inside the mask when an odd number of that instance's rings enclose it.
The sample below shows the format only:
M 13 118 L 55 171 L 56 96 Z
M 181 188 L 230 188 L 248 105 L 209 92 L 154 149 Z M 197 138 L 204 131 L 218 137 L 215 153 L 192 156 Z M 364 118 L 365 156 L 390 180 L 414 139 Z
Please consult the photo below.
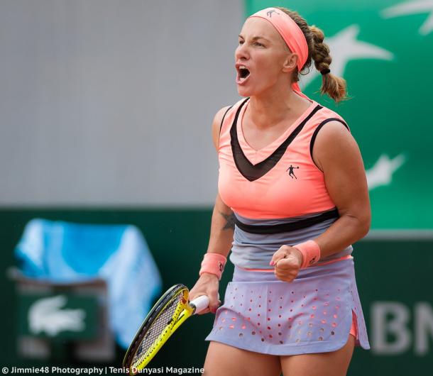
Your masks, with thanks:
M 326 43 L 323 43 L 324 33 L 317 26 L 308 26 L 307 21 L 302 18 L 296 11 L 290 11 L 282 6 L 275 6 L 286 13 L 293 21 L 300 27 L 302 33 L 305 35 L 308 45 L 308 57 L 305 65 L 302 67 L 301 72 L 298 72 L 297 68 L 293 74 L 293 82 L 299 81 L 299 74 L 304 72 L 306 68 L 311 67 L 312 60 L 314 60 L 314 66 L 322 73 L 324 70 L 329 70 L 331 65 L 332 57 L 329 55 L 329 47 Z M 309 70 L 308 70 L 309 72 Z M 321 94 L 328 94 L 337 103 L 347 99 L 347 85 L 344 78 L 335 76 L 331 73 L 322 74 L 322 87 L 320 88 Z

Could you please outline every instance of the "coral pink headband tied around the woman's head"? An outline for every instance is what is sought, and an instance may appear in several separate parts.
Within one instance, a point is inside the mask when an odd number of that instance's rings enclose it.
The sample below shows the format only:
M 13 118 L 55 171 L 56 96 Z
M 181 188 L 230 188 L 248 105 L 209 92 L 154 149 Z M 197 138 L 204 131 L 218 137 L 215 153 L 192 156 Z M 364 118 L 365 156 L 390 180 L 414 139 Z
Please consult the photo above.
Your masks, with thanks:
M 250 17 L 263 18 L 272 23 L 283 37 L 288 48 L 298 56 L 297 70 L 300 72 L 308 58 L 308 45 L 305 35 L 297 23 L 288 14 L 276 8 L 262 9 Z M 294 82 L 292 87 L 296 92 L 302 94 L 297 82 Z M 302 94 L 302 96 L 304 95 Z

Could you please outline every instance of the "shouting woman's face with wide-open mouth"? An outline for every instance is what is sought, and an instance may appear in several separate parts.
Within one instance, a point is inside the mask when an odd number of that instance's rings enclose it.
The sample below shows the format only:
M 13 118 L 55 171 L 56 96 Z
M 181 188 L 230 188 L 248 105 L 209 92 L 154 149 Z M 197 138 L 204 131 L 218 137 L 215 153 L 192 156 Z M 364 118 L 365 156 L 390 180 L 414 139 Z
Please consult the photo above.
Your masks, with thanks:
M 288 86 L 296 59 L 297 56 L 288 50 L 270 22 L 262 18 L 248 18 L 243 24 L 235 52 L 239 95 L 261 94 L 281 82 Z M 287 61 L 290 61 L 289 68 Z M 286 80 L 281 81 L 283 76 Z

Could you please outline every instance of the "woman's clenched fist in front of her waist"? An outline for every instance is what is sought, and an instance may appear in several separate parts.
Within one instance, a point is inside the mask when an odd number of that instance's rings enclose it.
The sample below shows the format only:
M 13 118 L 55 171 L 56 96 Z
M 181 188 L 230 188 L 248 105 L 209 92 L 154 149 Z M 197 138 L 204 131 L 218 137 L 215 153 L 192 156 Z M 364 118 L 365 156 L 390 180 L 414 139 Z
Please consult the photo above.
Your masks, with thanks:
M 275 265 L 275 276 L 278 280 L 292 282 L 302 265 L 302 253 L 289 245 L 282 245 L 273 254 L 269 265 Z

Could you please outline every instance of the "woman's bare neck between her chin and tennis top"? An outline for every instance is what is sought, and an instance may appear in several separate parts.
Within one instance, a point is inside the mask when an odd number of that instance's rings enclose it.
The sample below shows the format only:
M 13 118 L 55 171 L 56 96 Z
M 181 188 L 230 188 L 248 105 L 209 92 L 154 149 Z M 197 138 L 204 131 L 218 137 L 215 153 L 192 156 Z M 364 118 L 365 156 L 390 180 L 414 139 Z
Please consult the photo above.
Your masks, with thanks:
M 257 128 L 269 128 L 290 116 L 302 114 L 310 102 L 292 89 L 285 92 L 273 92 L 251 96 L 248 104 L 249 118 Z M 298 115 L 299 114 L 299 115 Z

